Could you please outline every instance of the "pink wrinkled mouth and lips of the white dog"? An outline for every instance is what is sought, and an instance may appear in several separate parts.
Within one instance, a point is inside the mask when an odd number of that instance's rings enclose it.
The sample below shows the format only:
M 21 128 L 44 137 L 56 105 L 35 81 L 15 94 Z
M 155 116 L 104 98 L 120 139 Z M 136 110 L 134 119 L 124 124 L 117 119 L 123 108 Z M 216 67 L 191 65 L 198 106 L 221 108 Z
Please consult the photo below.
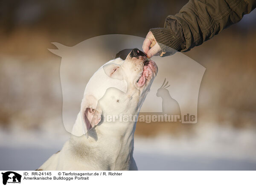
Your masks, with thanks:
M 157 64 L 154 61 L 146 60 L 144 61 L 143 72 L 136 81 L 139 87 L 143 87 L 147 81 L 150 81 L 157 74 Z

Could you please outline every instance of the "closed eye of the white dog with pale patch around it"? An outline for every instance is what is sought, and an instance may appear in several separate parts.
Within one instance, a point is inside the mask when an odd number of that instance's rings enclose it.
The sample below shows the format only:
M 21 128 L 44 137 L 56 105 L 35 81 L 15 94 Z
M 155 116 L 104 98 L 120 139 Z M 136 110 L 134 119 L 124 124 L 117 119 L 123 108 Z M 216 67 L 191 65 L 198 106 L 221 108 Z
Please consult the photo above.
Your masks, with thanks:
M 106 75 L 111 78 L 119 79 L 119 80 L 123 79 L 122 69 L 119 64 L 114 64 L 114 63 L 106 64 L 105 66 L 103 66 L 103 70 L 106 73 Z

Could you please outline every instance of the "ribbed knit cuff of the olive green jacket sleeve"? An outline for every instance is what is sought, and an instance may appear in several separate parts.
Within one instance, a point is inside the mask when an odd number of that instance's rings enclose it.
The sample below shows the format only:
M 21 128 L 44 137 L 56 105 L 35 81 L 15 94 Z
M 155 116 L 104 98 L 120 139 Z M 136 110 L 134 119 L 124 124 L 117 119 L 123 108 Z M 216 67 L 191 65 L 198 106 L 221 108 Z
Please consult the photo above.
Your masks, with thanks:
M 163 52 L 175 53 L 184 47 L 179 37 L 168 28 L 150 29 Z

